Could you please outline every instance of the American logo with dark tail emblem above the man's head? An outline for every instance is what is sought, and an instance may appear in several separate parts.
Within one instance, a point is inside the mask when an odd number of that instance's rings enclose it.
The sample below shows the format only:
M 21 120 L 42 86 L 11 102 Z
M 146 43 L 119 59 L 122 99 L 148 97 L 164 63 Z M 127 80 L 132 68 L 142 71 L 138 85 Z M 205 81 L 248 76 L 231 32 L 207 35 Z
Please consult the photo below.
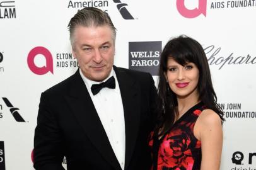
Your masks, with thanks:
M 113 3 L 117 4 L 117 9 L 121 14 L 124 20 L 134 20 L 132 14 L 126 8 L 128 4 L 122 3 L 120 0 L 113 0 Z M 102 9 L 106 13 L 108 12 L 108 1 L 69 1 L 67 8 L 86 8 L 86 7 L 95 7 L 95 8 L 104 8 Z

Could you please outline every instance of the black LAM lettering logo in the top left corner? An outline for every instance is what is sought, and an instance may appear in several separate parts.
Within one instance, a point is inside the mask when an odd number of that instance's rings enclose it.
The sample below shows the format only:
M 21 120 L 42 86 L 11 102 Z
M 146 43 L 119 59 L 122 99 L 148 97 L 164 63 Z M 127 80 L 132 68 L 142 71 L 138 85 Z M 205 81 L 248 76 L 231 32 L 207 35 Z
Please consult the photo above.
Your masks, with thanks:
M 16 18 L 15 1 L 0 1 L 0 19 Z

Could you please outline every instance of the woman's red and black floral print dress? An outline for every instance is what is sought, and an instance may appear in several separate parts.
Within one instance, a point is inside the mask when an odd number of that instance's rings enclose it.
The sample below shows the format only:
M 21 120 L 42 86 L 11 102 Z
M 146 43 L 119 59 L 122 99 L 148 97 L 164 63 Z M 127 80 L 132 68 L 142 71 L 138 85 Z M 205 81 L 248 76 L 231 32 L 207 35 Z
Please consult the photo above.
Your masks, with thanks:
M 194 125 L 205 109 L 202 102 L 190 108 L 160 140 L 153 137 L 151 132 L 149 147 L 153 153 L 152 170 L 200 169 L 201 141 L 194 136 Z

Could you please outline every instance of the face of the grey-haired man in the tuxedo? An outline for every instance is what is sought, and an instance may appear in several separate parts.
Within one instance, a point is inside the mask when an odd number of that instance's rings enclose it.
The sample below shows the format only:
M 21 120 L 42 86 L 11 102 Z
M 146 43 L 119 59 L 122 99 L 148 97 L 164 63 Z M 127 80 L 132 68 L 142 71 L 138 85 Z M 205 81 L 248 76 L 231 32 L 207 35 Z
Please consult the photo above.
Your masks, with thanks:
M 76 26 L 73 55 L 83 75 L 92 81 L 106 79 L 113 67 L 115 43 L 109 26 Z

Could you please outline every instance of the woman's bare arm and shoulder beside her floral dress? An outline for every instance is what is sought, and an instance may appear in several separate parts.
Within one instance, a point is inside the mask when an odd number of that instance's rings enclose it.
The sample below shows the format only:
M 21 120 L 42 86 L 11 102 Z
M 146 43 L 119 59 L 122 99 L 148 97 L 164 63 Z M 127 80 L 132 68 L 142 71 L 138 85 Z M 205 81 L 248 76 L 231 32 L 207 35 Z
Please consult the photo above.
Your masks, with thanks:
M 223 145 L 223 130 L 219 115 L 204 110 L 197 119 L 194 134 L 202 144 L 201 170 L 219 170 Z

